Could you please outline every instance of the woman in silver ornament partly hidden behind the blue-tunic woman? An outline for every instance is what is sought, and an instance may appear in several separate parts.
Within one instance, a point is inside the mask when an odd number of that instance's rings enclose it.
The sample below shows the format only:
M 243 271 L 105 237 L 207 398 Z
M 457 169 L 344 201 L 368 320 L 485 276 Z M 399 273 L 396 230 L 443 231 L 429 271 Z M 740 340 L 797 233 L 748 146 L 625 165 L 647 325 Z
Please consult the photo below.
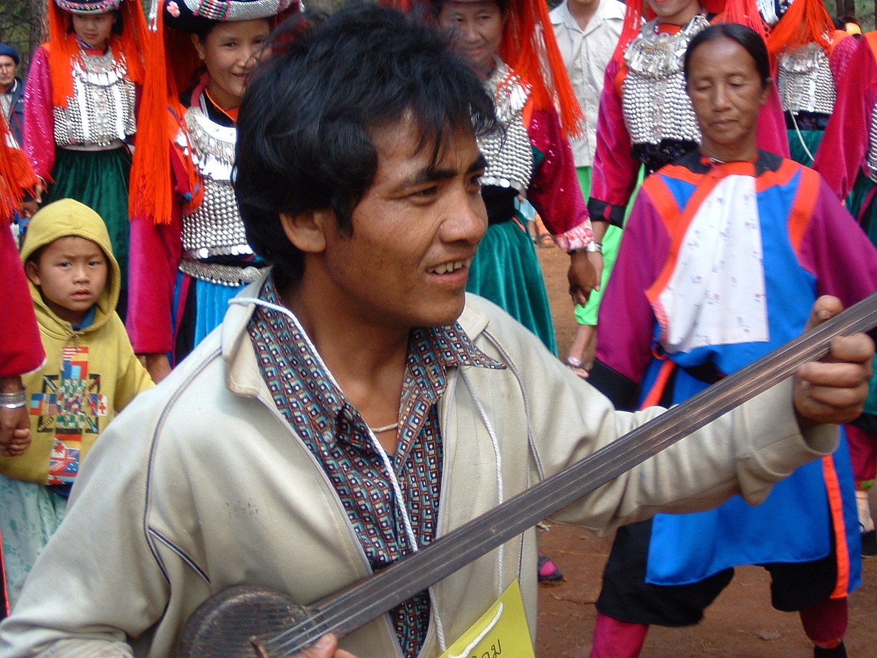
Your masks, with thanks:
M 731 0 L 734 2 L 734 0 Z M 640 168 L 651 173 L 700 142 L 700 128 L 685 93 L 682 56 L 710 22 L 724 20 L 725 0 L 629 0 L 624 30 L 606 68 L 597 122 L 597 147 L 588 211 L 600 241 L 609 224 L 624 224 Z M 759 117 L 759 147 L 788 155 L 775 93 Z

